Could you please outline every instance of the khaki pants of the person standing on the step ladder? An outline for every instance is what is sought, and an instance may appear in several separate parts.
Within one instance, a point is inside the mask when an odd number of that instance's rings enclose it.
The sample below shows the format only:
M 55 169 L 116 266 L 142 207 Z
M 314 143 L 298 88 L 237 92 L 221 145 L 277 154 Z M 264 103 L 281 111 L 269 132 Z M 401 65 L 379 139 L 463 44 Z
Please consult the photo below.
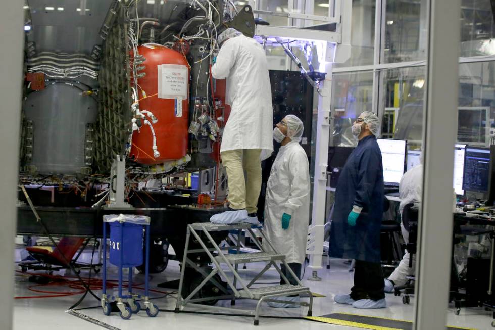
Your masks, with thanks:
M 227 171 L 228 200 L 234 210 L 256 213 L 261 191 L 261 149 L 237 149 L 221 153 Z M 245 171 L 245 176 L 244 176 Z

